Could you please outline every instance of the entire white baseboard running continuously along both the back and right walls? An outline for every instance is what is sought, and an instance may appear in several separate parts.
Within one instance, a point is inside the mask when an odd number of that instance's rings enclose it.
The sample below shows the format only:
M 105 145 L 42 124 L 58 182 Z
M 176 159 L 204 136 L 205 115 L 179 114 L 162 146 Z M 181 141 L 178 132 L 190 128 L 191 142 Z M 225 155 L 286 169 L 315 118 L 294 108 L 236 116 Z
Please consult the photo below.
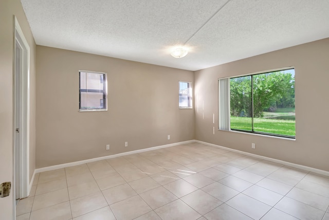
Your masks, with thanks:
M 235 149 L 223 147 L 223 146 L 220 146 L 220 145 L 210 144 L 210 143 L 207 143 L 207 142 L 202 142 L 202 141 L 198 141 L 198 140 L 190 140 L 190 141 L 185 141 L 185 142 L 177 142 L 177 143 L 168 144 L 168 145 L 161 145 L 161 146 L 150 147 L 150 148 L 134 150 L 134 151 L 128 151 L 128 152 L 123 152 L 123 153 L 118 153 L 118 154 L 113 154 L 113 155 L 108 155 L 108 156 L 102 156 L 102 157 L 97 157 L 97 158 L 92 158 L 92 159 L 85 159 L 84 161 L 77 161 L 77 162 L 72 162 L 72 163 L 67 163 L 67 164 L 59 164 L 59 165 L 54 165 L 54 166 L 50 166 L 50 167 L 38 168 L 38 169 L 34 170 L 34 173 L 33 173 L 33 176 L 32 176 L 31 182 L 30 182 L 30 186 L 29 186 L 29 192 L 32 188 L 35 173 L 40 173 L 40 172 L 45 172 L 45 171 L 50 171 L 50 170 L 56 170 L 56 169 L 65 168 L 65 167 L 72 167 L 72 166 L 77 166 L 77 165 L 81 165 L 81 164 L 92 163 L 92 162 L 95 162 L 95 161 L 101 161 L 102 159 L 110 159 L 110 158 L 115 158 L 115 157 L 118 157 L 118 156 L 125 156 L 125 155 L 130 155 L 130 154 L 135 154 L 135 153 L 142 153 L 142 152 L 146 152 L 146 151 L 157 150 L 157 149 L 167 148 L 167 147 L 173 147 L 173 146 L 182 145 L 182 144 L 189 144 L 189 143 L 193 143 L 193 142 L 199 143 L 199 144 L 204 144 L 204 145 L 207 145 L 207 146 L 210 146 L 210 147 L 221 148 L 223 150 L 228 150 L 228 151 L 232 151 L 232 152 L 235 152 L 235 153 L 241 153 L 241 154 L 244 154 L 244 155 L 247 155 L 247 156 L 252 156 L 252 157 L 255 157 L 255 158 L 259 158 L 259 159 L 265 159 L 266 161 L 282 164 L 282 165 L 285 165 L 285 166 L 295 167 L 295 168 L 298 168 L 298 169 L 302 169 L 302 170 L 318 173 L 318 174 L 321 174 L 321 175 L 329 176 L 329 172 L 325 171 L 325 170 L 320 170 L 320 169 L 307 167 L 307 166 L 303 166 L 303 165 L 299 165 L 299 164 L 293 164 L 293 163 L 286 162 L 286 161 L 280 161 L 280 159 L 274 159 L 274 158 L 270 158 L 270 157 L 266 157 L 266 156 L 261 156 L 261 155 L 257 155 L 257 154 L 253 154 L 253 153 L 248 153 L 248 152 L 244 152 L 244 151 L 240 151 L 240 150 L 235 150 Z

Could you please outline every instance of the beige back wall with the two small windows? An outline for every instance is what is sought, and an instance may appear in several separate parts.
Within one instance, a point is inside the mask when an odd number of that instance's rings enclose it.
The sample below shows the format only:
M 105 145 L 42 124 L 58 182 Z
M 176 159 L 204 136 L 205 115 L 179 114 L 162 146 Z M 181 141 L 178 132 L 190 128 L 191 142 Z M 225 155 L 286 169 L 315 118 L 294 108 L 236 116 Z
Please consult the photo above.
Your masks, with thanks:
M 193 72 L 43 46 L 36 57 L 36 167 L 194 138 L 193 109 L 178 109 Z M 107 73 L 107 111 L 79 112 L 79 69 Z

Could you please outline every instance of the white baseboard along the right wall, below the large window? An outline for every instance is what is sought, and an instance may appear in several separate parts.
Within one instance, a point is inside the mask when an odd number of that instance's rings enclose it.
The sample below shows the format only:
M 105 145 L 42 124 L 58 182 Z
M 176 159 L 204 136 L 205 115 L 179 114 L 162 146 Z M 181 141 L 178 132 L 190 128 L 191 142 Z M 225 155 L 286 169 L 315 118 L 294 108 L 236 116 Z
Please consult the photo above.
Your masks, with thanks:
M 235 152 L 235 153 L 241 153 L 241 154 L 244 154 L 244 155 L 247 155 L 247 156 L 252 156 L 252 157 L 255 157 L 255 158 L 259 158 L 259 159 L 265 159 L 265 161 L 270 161 L 270 162 L 274 162 L 274 163 L 277 163 L 277 164 L 282 164 L 282 165 L 298 168 L 298 169 L 301 169 L 301 170 L 306 170 L 306 171 L 318 173 L 318 174 L 321 174 L 321 175 L 329 176 L 329 172 L 325 171 L 325 170 L 320 170 L 320 169 L 307 167 L 307 166 L 303 166 L 303 165 L 299 165 L 299 164 L 293 164 L 293 163 L 286 162 L 286 161 L 280 161 L 280 159 L 274 159 L 274 158 L 270 158 L 270 157 L 266 157 L 266 156 L 261 156 L 261 155 L 257 155 L 257 154 L 253 154 L 253 153 L 248 153 L 248 152 L 244 152 L 244 151 L 240 151 L 240 150 L 235 150 L 235 149 L 223 147 L 223 146 L 220 146 L 220 145 L 210 144 L 210 143 L 207 143 L 207 142 L 202 142 L 202 141 L 197 141 L 197 140 L 195 140 L 195 142 L 199 143 L 199 144 L 208 145 L 210 147 L 216 147 L 216 148 L 221 148 L 223 150 L 232 151 L 232 152 Z

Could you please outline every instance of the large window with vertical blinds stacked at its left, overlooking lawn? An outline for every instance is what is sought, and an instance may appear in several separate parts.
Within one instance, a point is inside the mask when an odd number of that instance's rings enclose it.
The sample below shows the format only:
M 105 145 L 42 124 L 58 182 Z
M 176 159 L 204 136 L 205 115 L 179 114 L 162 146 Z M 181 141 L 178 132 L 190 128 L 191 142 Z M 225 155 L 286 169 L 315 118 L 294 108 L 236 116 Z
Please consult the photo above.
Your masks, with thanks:
M 296 137 L 294 68 L 219 81 L 221 130 Z

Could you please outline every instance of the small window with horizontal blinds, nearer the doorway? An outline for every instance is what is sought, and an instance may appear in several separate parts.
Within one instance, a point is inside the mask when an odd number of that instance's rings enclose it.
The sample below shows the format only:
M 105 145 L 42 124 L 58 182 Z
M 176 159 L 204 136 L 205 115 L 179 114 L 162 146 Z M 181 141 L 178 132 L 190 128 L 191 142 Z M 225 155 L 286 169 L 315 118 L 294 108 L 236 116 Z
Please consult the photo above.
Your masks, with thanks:
M 79 111 L 107 110 L 107 74 L 79 71 Z

